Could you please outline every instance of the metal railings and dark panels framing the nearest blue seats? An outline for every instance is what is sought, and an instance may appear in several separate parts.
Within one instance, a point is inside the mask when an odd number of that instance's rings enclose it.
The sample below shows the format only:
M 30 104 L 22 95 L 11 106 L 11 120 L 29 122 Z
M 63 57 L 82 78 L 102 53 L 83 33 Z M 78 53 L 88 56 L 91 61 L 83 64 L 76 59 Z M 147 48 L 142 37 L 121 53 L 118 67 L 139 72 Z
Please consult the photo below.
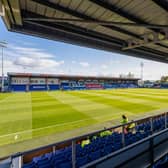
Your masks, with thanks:
M 153 121 L 157 118 L 164 118 L 164 129 L 155 132 L 153 130 Z M 160 115 L 150 116 L 140 120 L 135 120 L 127 124 L 117 125 L 114 127 L 102 129 L 96 132 L 78 136 L 72 139 L 68 139 L 62 142 L 46 145 L 37 149 L 16 153 L 12 156 L 0 159 L 0 168 L 21 168 L 25 157 L 39 156 L 44 154 L 41 151 L 55 152 L 65 146 L 72 147 L 72 167 L 76 168 L 76 144 L 77 142 L 86 139 L 87 137 L 93 137 L 94 135 L 100 134 L 102 131 L 119 131 L 122 133 L 122 149 L 108 154 L 100 159 L 90 162 L 89 164 L 82 166 L 82 168 L 105 168 L 105 167 L 151 167 L 155 162 L 161 159 L 165 154 L 168 153 L 168 112 L 162 113 Z M 127 125 L 135 123 L 139 125 L 144 122 L 150 123 L 151 135 L 135 142 L 131 145 L 125 145 L 125 133 L 124 128 Z M 50 149 L 50 150 L 48 150 Z M 32 159 L 32 158 L 31 158 Z

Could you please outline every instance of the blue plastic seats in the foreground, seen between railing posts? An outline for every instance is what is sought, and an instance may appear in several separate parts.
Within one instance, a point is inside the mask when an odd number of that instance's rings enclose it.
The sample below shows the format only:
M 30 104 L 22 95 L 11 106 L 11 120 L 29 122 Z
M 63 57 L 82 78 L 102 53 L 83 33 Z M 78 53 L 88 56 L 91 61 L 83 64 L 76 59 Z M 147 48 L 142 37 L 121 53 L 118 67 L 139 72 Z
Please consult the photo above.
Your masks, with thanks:
M 168 118 L 167 118 L 168 120 Z M 153 131 L 160 131 L 165 127 L 164 117 L 156 118 L 153 121 Z M 125 146 L 142 140 L 152 134 L 149 121 L 136 126 L 135 132 L 125 134 Z M 102 156 L 117 151 L 123 147 L 122 133 L 113 132 L 111 135 L 100 135 L 91 138 L 90 144 L 84 147 L 76 145 L 76 166 L 83 166 Z M 72 167 L 71 146 L 34 157 L 31 163 L 24 164 L 23 168 L 71 168 Z

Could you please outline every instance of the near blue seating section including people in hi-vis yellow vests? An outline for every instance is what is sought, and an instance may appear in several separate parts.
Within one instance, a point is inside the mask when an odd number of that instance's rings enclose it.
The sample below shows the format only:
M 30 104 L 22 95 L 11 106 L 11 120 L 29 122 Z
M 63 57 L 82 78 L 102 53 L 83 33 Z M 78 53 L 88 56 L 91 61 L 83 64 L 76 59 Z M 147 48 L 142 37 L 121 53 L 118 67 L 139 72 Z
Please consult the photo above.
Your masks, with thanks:
M 165 118 L 166 116 L 166 118 Z M 147 137 L 151 137 L 153 133 L 159 133 L 168 127 L 168 116 L 162 114 L 153 118 L 144 118 L 143 120 L 135 121 L 135 132 L 123 134 L 116 128 L 130 125 L 129 122 L 125 125 L 120 125 L 110 128 L 96 134 L 91 134 L 89 143 L 84 146 L 80 143 L 76 144 L 76 167 L 92 163 L 102 157 L 121 150 L 123 147 L 129 147 L 132 144 L 140 142 Z M 88 136 L 87 136 L 88 137 Z M 123 142 L 124 138 L 124 142 Z M 159 139 L 157 140 L 159 141 Z M 53 152 L 45 153 L 41 156 L 36 156 L 31 162 L 25 163 L 22 168 L 71 168 L 72 167 L 72 146 L 65 146 Z M 152 168 L 166 168 L 168 164 L 168 156 L 159 159 Z

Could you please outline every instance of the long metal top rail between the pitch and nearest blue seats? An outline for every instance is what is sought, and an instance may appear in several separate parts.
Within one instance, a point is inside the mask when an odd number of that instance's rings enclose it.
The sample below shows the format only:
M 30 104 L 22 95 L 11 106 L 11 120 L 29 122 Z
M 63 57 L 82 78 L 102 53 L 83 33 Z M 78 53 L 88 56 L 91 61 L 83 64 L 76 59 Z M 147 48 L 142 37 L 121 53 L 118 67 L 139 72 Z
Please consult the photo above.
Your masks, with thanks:
M 71 138 L 71 139 L 66 139 L 64 141 L 60 141 L 60 142 L 57 142 L 57 143 L 52 143 L 52 144 L 49 144 L 49 145 L 45 145 L 45 146 L 42 146 L 42 147 L 39 147 L 39 148 L 35 148 L 35 149 L 31 149 L 31 150 L 28 150 L 28 151 L 24 151 L 24 152 L 18 152 L 18 153 L 15 153 L 13 155 L 9 155 L 7 157 L 12 157 L 12 158 L 15 158 L 15 157 L 19 157 L 19 156 L 23 156 L 25 154 L 29 154 L 29 153 L 33 153 L 35 151 L 38 151 L 38 150 L 41 150 L 41 149 L 45 149 L 45 148 L 49 148 L 49 147 L 53 147 L 53 146 L 59 146 L 61 144 L 66 144 L 66 143 L 71 143 L 73 141 L 78 141 L 78 140 L 81 140 L 81 139 L 84 139 L 86 137 L 89 137 L 89 136 L 93 136 L 95 134 L 99 134 L 100 132 L 102 131 L 106 131 L 106 130 L 112 130 L 112 129 L 116 129 L 116 128 L 119 128 L 119 127 L 124 127 L 126 125 L 129 125 L 131 123 L 137 123 L 137 122 L 141 122 L 143 120 L 148 120 L 150 118 L 156 118 L 156 117 L 161 117 L 161 116 L 168 116 L 168 112 L 164 112 L 164 113 L 161 113 L 161 114 L 157 114 L 157 115 L 154 115 L 154 116 L 148 116 L 148 117 L 144 117 L 144 118 L 141 118 L 141 119 L 138 119 L 138 120 L 134 120 L 134 121 L 130 121 L 126 124 L 120 124 L 120 125 L 117 125 L 117 126 L 113 126 L 113 127 L 108 127 L 106 129 L 101 129 L 101 130 L 98 130 L 98 131 L 94 131 L 94 132 L 91 132 L 91 133 L 88 133 L 88 134 L 84 134 L 84 135 L 81 135 L 81 136 L 77 136 L 77 137 L 74 137 L 74 138 Z M 5 157 L 6 158 L 6 157 Z

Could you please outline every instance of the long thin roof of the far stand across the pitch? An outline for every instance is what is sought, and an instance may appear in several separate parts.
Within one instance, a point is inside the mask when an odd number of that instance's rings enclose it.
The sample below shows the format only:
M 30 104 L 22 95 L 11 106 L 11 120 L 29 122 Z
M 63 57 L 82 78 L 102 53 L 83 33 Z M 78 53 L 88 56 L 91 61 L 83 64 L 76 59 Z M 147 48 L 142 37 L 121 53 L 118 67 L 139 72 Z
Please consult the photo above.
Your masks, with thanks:
M 39 74 L 39 73 L 15 73 L 8 72 L 10 77 L 48 77 L 48 78 L 61 78 L 61 79 L 98 79 L 98 80 L 134 80 L 137 81 L 139 78 L 129 77 L 111 77 L 111 76 L 82 76 L 82 75 L 61 75 L 61 74 Z

